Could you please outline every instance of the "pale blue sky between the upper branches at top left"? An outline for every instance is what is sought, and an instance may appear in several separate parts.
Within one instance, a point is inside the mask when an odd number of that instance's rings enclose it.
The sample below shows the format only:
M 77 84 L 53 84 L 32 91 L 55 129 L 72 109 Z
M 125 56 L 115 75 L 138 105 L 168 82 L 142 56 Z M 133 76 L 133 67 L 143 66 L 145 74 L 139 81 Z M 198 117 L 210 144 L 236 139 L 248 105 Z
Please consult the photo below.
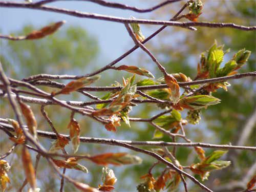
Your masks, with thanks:
M 148 8 L 151 5 L 158 4 L 160 1 L 126 0 L 116 2 L 139 8 Z M 107 8 L 90 2 L 62 1 L 48 5 L 83 12 L 100 13 L 121 17 L 130 17 L 132 15 L 137 18 L 148 18 L 148 16 L 150 16 L 150 13 L 141 14 L 129 10 Z M 79 18 L 39 10 L 0 8 L 0 29 L 3 34 L 9 34 L 10 32 L 21 30 L 23 26 L 27 24 L 32 24 L 40 29 L 41 27 L 48 25 L 50 22 L 57 22 L 59 20 L 66 20 L 66 26 L 77 25 L 95 35 L 99 41 L 103 58 L 106 58 L 109 61 L 114 60 L 124 53 L 125 50 L 128 50 L 133 46 L 133 42 L 130 36 L 127 34 L 123 24 L 106 22 L 103 20 Z M 159 26 L 155 26 L 150 29 L 144 27 L 143 33 L 145 36 L 147 36 L 157 28 L 159 28 Z

